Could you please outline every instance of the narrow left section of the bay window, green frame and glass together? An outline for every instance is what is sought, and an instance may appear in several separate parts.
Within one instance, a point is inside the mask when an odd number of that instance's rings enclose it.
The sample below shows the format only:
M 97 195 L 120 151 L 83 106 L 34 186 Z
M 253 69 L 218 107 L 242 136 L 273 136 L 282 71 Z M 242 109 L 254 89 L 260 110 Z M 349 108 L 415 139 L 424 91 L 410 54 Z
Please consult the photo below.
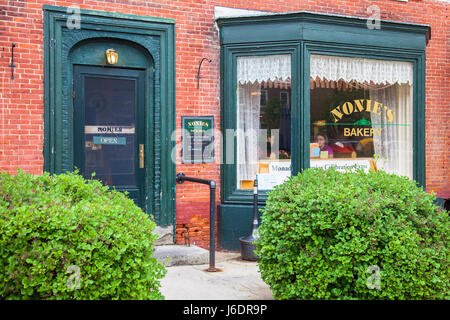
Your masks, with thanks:
M 228 107 L 222 109 L 223 198 L 250 203 L 258 177 L 264 203 L 266 192 L 300 167 L 291 161 L 300 159 L 293 142 L 299 130 L 299 48 L 280 44 L 228 52 L 223 92 Z

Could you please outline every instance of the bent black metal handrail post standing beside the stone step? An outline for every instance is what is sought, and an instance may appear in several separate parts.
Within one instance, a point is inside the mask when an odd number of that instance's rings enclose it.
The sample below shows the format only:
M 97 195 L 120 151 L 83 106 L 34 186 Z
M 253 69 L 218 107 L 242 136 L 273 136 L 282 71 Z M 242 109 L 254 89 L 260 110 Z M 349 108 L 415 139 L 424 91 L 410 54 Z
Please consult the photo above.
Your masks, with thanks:
M 215 272 L 216 269 L 216 182 L 193 177 L 187 177 L 179 172 L 176 175 L 177 183 L 184 181 L 196 182 L 209 185 L 209 268 L 207 271 Z

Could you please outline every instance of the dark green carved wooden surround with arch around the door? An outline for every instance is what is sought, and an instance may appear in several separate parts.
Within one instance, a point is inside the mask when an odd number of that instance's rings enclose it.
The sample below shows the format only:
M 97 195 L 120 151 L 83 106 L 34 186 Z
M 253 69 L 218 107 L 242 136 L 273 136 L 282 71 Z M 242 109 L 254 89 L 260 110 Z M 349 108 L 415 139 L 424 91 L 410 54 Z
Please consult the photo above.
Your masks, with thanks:
M 148 139 L 152 139 L 153 152 L 147 148 L 145 158 L 151 159 L 153 165 L 146 173 L 147 185 L 152 184 L 152 190 L 147 193 L 145 208 L 158 225 L 175 228 L 175 164 L 171 160 L 175 146 L 171 140 L 175 129 L 175 21 L 82 9 L 81 28 L 69 30 L 67 22 L 72 13 L 68 8 L 44 5 L 43 11 L 44 171 L 58 174 L 73 170 L 71 51 L 78 43 L 94 38 L 134 43 L 154 59 L 154 68 L 147 68 L 147 72 L 155 74 L 152 78 L 155 90 L 152 118 L 146 119 L 154 121 L 146 132 Z

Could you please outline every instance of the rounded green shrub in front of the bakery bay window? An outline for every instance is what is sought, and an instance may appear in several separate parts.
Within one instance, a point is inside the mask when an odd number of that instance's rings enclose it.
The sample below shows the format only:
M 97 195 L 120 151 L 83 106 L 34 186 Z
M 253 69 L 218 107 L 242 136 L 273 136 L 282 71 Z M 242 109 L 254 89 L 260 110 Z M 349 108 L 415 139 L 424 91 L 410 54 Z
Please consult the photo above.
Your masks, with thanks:
M 307 169 L 268 193 L 256 254 L 276 299 L 448 299 L 448 213 L 408 178 Z

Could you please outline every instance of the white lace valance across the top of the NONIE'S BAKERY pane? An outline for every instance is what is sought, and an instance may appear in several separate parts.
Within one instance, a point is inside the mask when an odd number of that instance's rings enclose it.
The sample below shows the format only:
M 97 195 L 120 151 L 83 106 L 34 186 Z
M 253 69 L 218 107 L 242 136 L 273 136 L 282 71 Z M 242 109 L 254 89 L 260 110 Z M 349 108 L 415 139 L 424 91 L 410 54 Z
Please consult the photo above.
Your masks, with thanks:
M 311 78 L 372 84 L 413 84 L 410 62 L 311 55 Z

